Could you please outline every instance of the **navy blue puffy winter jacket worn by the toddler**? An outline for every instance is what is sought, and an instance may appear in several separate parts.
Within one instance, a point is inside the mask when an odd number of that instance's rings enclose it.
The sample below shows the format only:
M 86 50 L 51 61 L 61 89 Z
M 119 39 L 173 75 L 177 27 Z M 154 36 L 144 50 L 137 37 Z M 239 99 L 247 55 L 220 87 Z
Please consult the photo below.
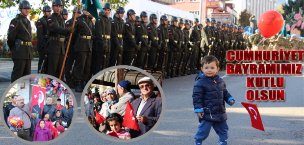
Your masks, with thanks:
M 226 121 L 227 114 L 225 108 L 225 102 L 228 103 L 234 98 L 228 93 L 226 84 L 219 75 L 213 77 L 207 77 L 203 73 L 199 73 L 195 77 L 195 83 L 193 88 L 193 106 L 195 113 L 204 112 L 203 118 L 199 118 L 199 121 Z M 212 118 L 210 117 L 211 111 Z

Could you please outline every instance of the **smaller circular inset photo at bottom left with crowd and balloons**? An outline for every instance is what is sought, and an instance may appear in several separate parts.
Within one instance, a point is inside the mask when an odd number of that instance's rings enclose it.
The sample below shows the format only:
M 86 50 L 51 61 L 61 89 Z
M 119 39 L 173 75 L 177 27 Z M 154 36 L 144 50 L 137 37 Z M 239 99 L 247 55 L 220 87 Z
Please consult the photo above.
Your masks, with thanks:
M 47 74 L 31 74 L 13 82 L 0 106 L 4 128 L 26 144 L 50 144 L 71 130 L 77 112 L 74 94 L 64 82 Z

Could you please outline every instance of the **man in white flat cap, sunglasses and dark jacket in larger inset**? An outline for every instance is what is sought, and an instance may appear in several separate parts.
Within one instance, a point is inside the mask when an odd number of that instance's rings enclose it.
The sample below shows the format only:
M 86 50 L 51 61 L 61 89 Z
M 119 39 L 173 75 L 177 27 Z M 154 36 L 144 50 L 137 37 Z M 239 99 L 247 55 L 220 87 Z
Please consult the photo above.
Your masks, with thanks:
M 130 129 L 132 139 L 148 132 L 158 121 L 161 113 L 161 97 L 153 93 L 154 84 L 150 77 L 138 81 L 142 96 L 132 102 L 134 114 L 139 124 L 139 131 Z

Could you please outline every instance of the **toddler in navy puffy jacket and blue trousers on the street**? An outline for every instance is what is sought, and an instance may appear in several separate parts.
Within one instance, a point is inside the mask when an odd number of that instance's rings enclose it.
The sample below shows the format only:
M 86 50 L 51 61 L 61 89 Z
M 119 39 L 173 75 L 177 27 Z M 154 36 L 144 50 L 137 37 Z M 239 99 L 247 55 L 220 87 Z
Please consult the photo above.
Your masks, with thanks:
M 232 106 L 235 99 L 228 93 L 225 81 L 216 74 L 220 70 L 216 57 L 204 57 L 201 70 L 203 73 L 195 77 L 192 94 L 194 113 L 201 123 L 194 137 L 195 145 L 202 145 L 209 135 L 211 126 L 219 136 L 218 145 L 228 145 L 229 134 L 224 101 Z

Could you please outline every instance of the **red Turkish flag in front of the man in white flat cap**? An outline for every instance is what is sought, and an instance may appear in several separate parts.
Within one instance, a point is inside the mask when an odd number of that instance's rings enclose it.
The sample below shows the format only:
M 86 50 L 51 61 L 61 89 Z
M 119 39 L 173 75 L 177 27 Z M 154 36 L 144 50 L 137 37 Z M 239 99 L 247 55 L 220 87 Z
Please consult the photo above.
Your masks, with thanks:
M 129 101 L 127 101 L 127 108 L 123 121 L 123 126 L 139 131 L 139 125 L 133 113 L 134 109 Z

